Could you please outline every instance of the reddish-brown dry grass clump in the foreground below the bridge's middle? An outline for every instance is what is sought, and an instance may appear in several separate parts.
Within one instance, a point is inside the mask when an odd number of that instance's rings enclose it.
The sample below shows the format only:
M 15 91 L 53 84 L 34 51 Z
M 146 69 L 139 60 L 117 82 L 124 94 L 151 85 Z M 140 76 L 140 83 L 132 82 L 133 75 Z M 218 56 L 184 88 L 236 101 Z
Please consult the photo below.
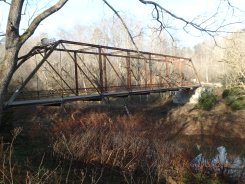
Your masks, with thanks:
M 187 148 L 167 141 L 168 132 L 141 113 L 114 118 L 106 112 L 73 114 L 54 124 L 53 149 L 66 159 L 99 163 L 127 173 L 138 170 L 152 182 L 169 176 L 178 180 L 188 167 L 183 154 Z

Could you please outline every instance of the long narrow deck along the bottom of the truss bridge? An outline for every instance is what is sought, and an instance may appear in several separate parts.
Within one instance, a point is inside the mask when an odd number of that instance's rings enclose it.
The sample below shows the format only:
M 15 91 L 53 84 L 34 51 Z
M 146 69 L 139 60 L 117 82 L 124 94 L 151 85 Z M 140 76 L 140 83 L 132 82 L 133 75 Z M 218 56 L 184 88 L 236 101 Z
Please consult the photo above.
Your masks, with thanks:
M 151 88 L 151 89 L 144 89 L 144 90 L 106 92 L 106 93 L 101 93 L 101 94 L 66 96 L 66 97 L 35 99 L 35 100 L 19 100 L 19 101 L 14 101 L 8 104 L 6 108 L 13 108 L 13 107 L 27 106 L 27 105 L 54 105 L 54 104 L 62 104 L 62 103 L 69 102 L 69 101 L 79 101 L 79 100 L 81 101 L 100 101 L 106 97 L 127 97 L 127 96 L 133 96 L 133 95 L 147 95 L 150 93 L 179 91 L 181 89 L 189 90 L 189 89 L 194 89 L 197 87 L 200 87 L 200 85 L 173 87 L 173 88 Z

